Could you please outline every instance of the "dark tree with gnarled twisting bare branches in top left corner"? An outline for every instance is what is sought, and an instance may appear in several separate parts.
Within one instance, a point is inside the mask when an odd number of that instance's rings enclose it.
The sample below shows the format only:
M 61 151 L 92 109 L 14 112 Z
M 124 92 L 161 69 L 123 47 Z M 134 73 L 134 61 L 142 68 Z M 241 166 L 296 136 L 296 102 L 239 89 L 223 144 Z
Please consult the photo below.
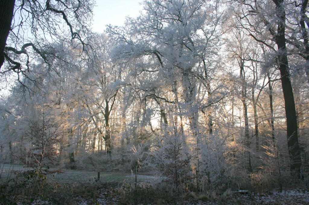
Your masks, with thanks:
M 19 75 L 27 77 L 36 56 L 52 68 L 52 60 L 61 58 L 58 53 L 62 50 L 56 42 L 81 45 L 81 51 L 93 57 L 85 36 L 91 33 L 89 20 L 93 6 L 93 1 L 86 0 L 1 1 L 1 74 L 17 73 L 20 81 Z

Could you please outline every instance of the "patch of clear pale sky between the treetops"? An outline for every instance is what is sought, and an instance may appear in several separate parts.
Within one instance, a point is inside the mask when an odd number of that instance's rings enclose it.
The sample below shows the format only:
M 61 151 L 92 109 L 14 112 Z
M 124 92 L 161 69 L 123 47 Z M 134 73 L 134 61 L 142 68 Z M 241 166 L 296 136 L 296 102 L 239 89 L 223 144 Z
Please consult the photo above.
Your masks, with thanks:
M 103 33 L 106 24 L 121 26 L 125 17 L 137 17 L 142 6 L 142 0 L 96 0 L 96 7 L 93 10 L 93 31 Z

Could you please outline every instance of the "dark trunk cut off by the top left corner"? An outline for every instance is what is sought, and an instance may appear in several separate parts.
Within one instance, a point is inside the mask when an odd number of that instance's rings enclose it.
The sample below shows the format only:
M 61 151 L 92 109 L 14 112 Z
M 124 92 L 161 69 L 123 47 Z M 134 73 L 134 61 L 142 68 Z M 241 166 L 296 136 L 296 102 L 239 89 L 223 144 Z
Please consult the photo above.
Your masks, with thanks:
M 4 47 L 11 29 L 15 0 L 0 1 L 0 69 L 4 63 Z

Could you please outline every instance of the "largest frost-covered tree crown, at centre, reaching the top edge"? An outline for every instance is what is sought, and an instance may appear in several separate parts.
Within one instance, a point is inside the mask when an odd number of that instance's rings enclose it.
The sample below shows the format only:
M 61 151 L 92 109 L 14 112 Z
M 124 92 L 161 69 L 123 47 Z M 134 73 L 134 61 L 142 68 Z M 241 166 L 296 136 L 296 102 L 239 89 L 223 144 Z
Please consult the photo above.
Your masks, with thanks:
M 196 135 L 199 113 L 220 99 L 216 96 L 220 89 L 211 89 L 224 21 L 219 5 L 219 1 L 148 1 L 145 14 L 128 19 L 125 27 L 107 30 L 117 45 L 115 56 L 132 62 L 137 80 L 143 76 L 138 88 L 143 100 L 154 100 L 160 107 L 162 128 L 171 119 L 180 128 L 188 119 L 190 132 Z M 171 119 L 168 111 L 174 115 Z M 211 112 L 204 116 L 210 118 L 211 133 Z

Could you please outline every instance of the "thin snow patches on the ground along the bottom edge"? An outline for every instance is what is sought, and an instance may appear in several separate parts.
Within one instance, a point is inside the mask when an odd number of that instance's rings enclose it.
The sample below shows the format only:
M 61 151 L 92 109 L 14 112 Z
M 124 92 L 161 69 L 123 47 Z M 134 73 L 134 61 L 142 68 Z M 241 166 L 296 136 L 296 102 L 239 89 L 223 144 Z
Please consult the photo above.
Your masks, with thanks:
M 85 200 L 83 198 L 76 199 L 76 204 L 87 205 L 87 204 L 120 204 L 117 197 L 111 197 L 109 190 L 100 189 L 98 190 L 100 197 L 94 200 Z M 48 201 L 36 200 L 32 205 L 39 204 L 50 204 Z M 159 204 L 159 203 L 153 203 Z M 160 204 L 166 204 L 164 202 Z M 170 203 L 169 203 L 170 204 Z M 226 199 L 220 199 L 216 201 L 200 201 L 194 199 L 186 199 L 179 201 L 175 204 L 184 205 L 217 205 L 217 204 L 272 204 L 272 205 L 307 205 L 309 204 L 309 192 L 308 191 L 298 191 L 298 190 L 288 190 L 279 192 L 273 192 L 270 194 L 258 194 L 258 193 L 248 193 L 248 194 L 233 194 L 228 196 Z

